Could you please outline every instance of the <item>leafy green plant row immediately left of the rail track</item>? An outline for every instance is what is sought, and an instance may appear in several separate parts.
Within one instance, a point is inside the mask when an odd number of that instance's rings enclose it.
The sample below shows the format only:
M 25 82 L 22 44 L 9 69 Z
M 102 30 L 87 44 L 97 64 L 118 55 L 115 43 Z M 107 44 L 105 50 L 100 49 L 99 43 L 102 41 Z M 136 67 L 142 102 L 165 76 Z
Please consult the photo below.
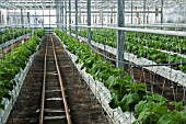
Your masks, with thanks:
M 44 31 L 40 30 L 43 33 Z M 10 91 L 16 84 L 13 80 L 15 75 L 18 75 L 21 69 L 24 69 L 30 56 L 36 52 L 36 46 L 39 43 L 39 37 L 37 35 L 31 36 L 28 42 L 20 44 L 11 53 L 7 54 L 4 59 L 0 63 L 0 102 L 3 98 L 10 99 Z M 0 109 L 3 109 L 1 102 Z

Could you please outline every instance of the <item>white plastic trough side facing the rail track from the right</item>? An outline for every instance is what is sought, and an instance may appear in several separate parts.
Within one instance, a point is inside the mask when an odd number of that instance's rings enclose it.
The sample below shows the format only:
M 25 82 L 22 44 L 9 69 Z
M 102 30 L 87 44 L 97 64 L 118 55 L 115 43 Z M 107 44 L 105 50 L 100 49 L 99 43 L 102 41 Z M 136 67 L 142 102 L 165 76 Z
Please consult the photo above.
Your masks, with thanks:
M 61 42 L 60 42 L 61 43 Z M 66 45 L 61 43 L 61 45 L 66 48 Z M 67 49 L 66 49 L 67 50 Z M 100 82 L 97 80 L 94 80 L 93 77 L 90 74 L 85 72 L 85 69 L 81 70 L 82 65 L 75 64 L 74 61 L 78 59 L 78 56 L 71 54 L 69 50 L 67 50 L 69 57 L 73 61 L 74 66 L 96 97 L 96 99 L 100 101 L 101 105 L 105 110 L 105 112 L 108 114 L 108 116 L 112 119 L 114 124 L 131 124 L 136 121 L 135 116 L 131 112 L 123 112 L 120 108 L 117 109 L 111 109 L 109 108 L 109 101 L 111 101 L 111 92 L 109 90 L 104 86 L 103 82 Z

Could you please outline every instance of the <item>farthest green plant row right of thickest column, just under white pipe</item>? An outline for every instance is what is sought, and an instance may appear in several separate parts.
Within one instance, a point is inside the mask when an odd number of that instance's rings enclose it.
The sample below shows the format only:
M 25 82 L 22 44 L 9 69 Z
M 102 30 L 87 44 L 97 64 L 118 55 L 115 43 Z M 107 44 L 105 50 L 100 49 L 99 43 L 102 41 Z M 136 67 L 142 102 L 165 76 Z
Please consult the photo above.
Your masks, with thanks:
M 126 33 L 133 43 L 141 44 L 149 48 L 159 48 L 167 52 L 186 54 L 186 38 L 178 36 L 167 36 L 144 33 Z

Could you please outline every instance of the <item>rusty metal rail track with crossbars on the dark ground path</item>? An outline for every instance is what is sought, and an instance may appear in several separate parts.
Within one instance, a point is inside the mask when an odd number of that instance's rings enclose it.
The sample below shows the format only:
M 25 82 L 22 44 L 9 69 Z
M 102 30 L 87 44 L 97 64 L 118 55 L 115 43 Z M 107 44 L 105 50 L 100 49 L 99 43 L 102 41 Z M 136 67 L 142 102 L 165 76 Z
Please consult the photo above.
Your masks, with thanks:
M 39 124 L 71 124 L 53 36 L 46 42 Z

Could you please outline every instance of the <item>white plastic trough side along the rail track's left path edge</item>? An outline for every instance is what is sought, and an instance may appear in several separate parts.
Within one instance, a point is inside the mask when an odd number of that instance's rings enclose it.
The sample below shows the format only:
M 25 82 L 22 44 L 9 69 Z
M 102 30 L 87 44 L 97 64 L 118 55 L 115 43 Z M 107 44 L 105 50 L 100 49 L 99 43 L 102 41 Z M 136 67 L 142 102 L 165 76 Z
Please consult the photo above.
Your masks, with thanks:
M 36 47 L 36 53 L 40 46 L 40 43 Z M 16 99 L 18 99 L 21 88 L 23 86 L 24 79 L 26 78 L 27 71 L 34 61 L 34 57 L 35 57 L 36 53 L 34 53 L 32 56 L 30 56 L 30 59 L 28 59 L 24 70 L 21 69 L 21 71 L 14 77 L 13 80 L 15 80 L 16 86 L 10 92 L 10 94 L 11 94 L 10 101 L 8 99 L 3 99 L 3 101 L 2 101 L 2 103 L 4 104 L 4 110 L 0 110 L 0 124 L 5 124 L 5 122 L 9 117 L 9 114 L 10 114 L 11 110 L 13 109 L 14 103 L 16 102 Z

